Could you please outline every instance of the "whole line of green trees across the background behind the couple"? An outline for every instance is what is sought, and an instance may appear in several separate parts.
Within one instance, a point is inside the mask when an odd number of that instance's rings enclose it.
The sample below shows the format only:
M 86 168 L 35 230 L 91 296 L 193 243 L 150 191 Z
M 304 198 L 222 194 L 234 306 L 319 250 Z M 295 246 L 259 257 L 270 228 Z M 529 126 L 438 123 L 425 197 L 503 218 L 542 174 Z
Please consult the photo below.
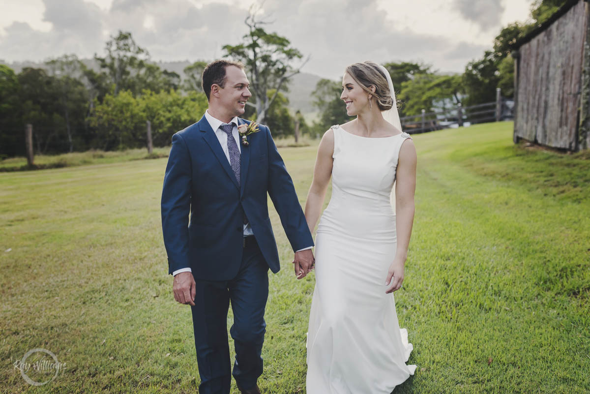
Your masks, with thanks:
M 493 48 L 467 64 L 463 74 L 444 75 L 422 63 L 387 63 L 400 116 L 487 103 L 496 88 L 513 95 L 514 62 L 510 45 L 545 21 L 566 0 L 537 0 L 531 24 L 501 29 Z M 302 133 L 320 135 L 332 124 L 349 120 L 340 100 L 341 81 L 320 80 L 310 100 L 318 109 L 313 124 L 289 111 L 289 78 L 305 64 L 290 41 L 267 33 L 251 9 L 245 21 L 248 33 L 237 45 L 224 45 L 225 56 L 245 64 L 253 97 L 244 117 L 267 124 L 275 136 Z M 294 64 L 303 61 L 299 67 Z M 75 55 L 47 61 L 45 68 L 24 68 L 15 74 L 0 64 L 0 158 L 25 155 L 24 127 L 33 126 L 35 154 L 116 150 L 147 145 L 150 122 L 154 146 L 166 146 L 172 134 L 198 120 L 207 99 L 201 74 L 207 62 L 183 70 L 184 78 L 163 70 L 129 32 L 120 31 L 106 42 L 104 55 L 94 56 L 90 67 Z

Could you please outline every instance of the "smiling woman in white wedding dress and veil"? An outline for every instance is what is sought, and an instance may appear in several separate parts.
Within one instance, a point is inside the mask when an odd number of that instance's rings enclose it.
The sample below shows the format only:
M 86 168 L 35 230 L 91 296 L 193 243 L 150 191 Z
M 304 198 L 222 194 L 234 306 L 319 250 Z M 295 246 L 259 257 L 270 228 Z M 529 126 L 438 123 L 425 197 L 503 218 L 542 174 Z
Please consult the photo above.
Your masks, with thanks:
M 305 206 L 313 232 L 332 177 L 316 235 L 307 393 L 389 394 L 416 369 L 406 365 L 413 347 L 399 329 L 393 294 L 404 281 L 414 221 L 416 150 L 401 132 L 384 67 L 349 65 L 342 88 L 356 119 L 322 137 Z

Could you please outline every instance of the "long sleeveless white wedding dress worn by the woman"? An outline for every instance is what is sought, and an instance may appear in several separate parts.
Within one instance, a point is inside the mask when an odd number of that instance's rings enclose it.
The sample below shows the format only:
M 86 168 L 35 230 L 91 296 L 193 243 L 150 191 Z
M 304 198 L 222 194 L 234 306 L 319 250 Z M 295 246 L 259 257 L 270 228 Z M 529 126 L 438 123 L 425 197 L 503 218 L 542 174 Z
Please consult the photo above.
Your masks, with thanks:
M 332 126 L 332 198 L 316 235 L 307 394 L 389 394 L 414 375 L 385 280 L 395 256 L 390 193 L 407 133 L 368 138 Z

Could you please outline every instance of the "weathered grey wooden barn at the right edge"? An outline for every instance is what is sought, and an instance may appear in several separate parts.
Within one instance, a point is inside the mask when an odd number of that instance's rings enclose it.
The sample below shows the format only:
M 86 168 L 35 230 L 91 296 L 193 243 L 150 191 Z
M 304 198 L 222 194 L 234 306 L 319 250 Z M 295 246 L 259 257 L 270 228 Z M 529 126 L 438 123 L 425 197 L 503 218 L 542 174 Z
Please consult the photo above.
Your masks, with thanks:
M 513 45 L 514 142 L 590 147 L 590 4 L 571 0 Z

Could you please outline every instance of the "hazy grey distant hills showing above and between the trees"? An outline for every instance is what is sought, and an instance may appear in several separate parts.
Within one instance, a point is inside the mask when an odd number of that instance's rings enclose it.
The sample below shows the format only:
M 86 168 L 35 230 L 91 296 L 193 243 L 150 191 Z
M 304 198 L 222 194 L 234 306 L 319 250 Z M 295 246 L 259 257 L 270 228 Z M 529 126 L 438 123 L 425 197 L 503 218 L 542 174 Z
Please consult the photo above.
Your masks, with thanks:
M 81 61 L 86 64 L 87 67 L 90 67 L 93 70 L 99 70 L 99 67 L 94 59 L 81 59 Z M 12 70 L 14 70 L 14 72 L 17 74 L 20 73 L 25 67 L 45 68 L 44 63 L 34 61 L 6 63 L 0 60 L 0 63 L 8 65 L 8 67 L 12 68 Z M 188 60 L 156 61 L 155 63 L 158 64 L 158 66 L 162 69 L 174 71 L 180 75 L 181 78 L 184 78 L 184 68 L 187 65 L 192 64 L 192 62 Z M 316 111 L 316 109 L 313 107 L 312 92 L 316 88 L 317 81 L 320 79 L 322 78 L 310 73 L 299 73 L 291 78 L 289 81 L 289 93 L 287 93 L 287 97 L 289 98 L 289 109 L 291 109 L 293 113 L 299 110 L 301 113 L 307 116 Z

